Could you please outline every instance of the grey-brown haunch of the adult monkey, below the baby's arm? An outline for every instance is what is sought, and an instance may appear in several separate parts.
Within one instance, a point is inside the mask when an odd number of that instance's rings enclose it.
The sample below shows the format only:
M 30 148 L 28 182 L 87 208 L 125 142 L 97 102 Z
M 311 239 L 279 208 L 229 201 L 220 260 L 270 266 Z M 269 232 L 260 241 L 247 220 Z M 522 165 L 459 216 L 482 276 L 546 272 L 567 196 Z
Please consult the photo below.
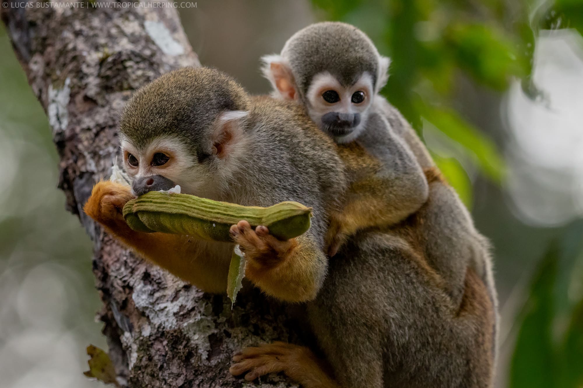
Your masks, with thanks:
M 491 386 L 486 285 L 468 269 L 454 306 L 440 281 L 394 232 L 361 232 L 331 259 L 308 316 L 342 387 Z

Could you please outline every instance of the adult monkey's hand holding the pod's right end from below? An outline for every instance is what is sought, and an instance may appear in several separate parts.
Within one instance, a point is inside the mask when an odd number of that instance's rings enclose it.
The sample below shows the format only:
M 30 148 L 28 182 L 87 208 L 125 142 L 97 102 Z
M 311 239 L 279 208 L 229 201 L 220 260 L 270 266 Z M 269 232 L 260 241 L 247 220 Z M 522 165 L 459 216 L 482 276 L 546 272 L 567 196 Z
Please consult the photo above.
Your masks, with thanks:
M 269 234 L 267 227 L 259 225 L 253 230 L 244 220 L 232 225 L 230 232 L 235 243 L 245 253 L 245 258 L 264 268 L 281 263 L 297 245 L 295 238 L 280 241 Z

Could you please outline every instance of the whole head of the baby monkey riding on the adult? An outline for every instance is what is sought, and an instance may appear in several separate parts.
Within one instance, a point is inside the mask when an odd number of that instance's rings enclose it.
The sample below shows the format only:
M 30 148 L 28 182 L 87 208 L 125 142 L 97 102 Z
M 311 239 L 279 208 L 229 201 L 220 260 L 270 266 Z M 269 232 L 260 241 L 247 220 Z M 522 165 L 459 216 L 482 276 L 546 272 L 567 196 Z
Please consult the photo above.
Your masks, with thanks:
M 359 136 L 388 77 L 389 59 L 363 31 L 346 23 L 311 24 L 289 38 L 280 55 L 262 59 L 275 95 L 303 104 L 340 143 Z

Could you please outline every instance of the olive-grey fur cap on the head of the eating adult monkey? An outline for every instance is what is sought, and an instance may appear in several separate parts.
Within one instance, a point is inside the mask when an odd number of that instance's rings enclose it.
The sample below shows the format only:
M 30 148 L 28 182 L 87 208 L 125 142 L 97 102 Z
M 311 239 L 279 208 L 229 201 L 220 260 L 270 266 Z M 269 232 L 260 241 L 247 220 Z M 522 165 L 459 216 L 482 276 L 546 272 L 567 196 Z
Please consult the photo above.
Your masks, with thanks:
M 248 104 L 244 90 L 230 77 L 179 69 L 132 96 L 121 115 L 120 132 L 136 147 L 157 136 L 178 136 L 198 160 L 203 160 L 211 154 L 212 122 L 222 112 L 245 111 Z

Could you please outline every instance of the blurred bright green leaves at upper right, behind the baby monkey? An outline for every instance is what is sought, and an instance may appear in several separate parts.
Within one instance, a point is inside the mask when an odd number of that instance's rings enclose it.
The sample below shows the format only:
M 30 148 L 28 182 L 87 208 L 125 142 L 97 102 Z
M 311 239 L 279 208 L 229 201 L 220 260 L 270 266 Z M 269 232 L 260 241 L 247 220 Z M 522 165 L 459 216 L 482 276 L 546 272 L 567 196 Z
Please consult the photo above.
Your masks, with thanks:
M 535 36 L 540 29 L 583 28 L 583 1 L 505 0 L 312 0 L 325 19 L 361 27 L 391 57 L 391 77 L 383 93 L 420 132 L 430 122 L 463 146 L 484 176 L 500 183 L 505 169 L 493 142 L 452 109 L 460 79 L 495 91 L 505 91 L 512 79 L 524 80 L 535 98 L 530 79 Z M 536 12 L 533 12 L 535 10 Z M 461 165 L 444 167 L 449 181 L 463 192 L 466 174 Z M 467 189 L 467 188 L 465 188 Z M 469 204 L 470 196 L 464 197 Z

